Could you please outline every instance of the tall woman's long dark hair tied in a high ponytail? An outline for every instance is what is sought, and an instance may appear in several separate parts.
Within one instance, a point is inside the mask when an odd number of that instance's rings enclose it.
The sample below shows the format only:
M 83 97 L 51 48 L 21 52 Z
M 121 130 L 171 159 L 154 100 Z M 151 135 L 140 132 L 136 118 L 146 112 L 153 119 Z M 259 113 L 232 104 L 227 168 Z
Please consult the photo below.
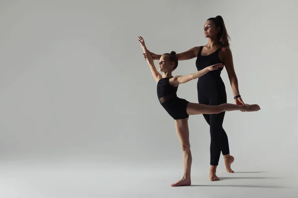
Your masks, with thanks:
M 228 41 L 230 40 L 230 37 L 226 32 L 223 17 L 219 15 L 216 17 L 209 18 L 208 20 L 211 20 L 216 27 L 221 28 L 220 32 L 217 34 L 217 38 L 223 47 L 229 47 Z

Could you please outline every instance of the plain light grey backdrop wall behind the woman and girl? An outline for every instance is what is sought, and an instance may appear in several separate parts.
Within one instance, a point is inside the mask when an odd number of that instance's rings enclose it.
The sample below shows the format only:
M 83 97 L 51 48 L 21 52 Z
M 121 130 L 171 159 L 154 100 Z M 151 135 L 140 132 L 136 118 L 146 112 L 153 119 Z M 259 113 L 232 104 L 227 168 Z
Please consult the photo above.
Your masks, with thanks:
M 174 121 L 158 103 L 137 36 L 153 52 L 178 53 L 205 45 L 205 21 L 222 15 L 242 99 L 261 106 L 226 113 L 234 169 L 296 168 L 297 6 L 295 0 L 1 0 L 1 161 L 182 168 Z M 173 74 L 195 71 L 192 59 Z M 234 103 L 225 70 L 222 78 Z M 196 80 L 181 85 L 178 96 L 197 102 Z M 196 115 L 189 128 L 193 167 L 208 172 L 209 127 Z

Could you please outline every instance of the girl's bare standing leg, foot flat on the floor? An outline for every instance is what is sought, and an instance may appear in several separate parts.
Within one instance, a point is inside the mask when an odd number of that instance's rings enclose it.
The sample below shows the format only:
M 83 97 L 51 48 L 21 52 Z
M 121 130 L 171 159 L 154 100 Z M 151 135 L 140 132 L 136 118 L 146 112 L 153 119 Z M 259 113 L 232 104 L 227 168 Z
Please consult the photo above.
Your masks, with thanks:
M 189 143 L 189 130 L 188 130 L 188 118 L 175 120 L 176 133 L 181 143 L 181 148 L 183 152 L 183 163 L 184 163 L 184 174 L 181 180 L 172 184 L 175 186 L 190 186 L 190 171 L 192 156 L 190 151 Z

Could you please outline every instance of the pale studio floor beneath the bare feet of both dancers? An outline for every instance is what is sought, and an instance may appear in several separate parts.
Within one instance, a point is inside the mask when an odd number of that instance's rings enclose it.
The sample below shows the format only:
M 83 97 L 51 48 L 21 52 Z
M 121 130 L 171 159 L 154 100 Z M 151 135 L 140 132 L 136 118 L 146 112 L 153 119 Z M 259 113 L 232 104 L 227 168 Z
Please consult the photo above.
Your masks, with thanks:
M 210 182 L 206 168 L 193 167 L 192 186 L 171 187 L 182 170 L 169 164 L 144 166 L 102 163 L 34 163 L 0 165 L 1 198 L 297 198 L 297 173 L 265 166 L 218 169 Z M 235 168 L 234 168 L 235 169 Z

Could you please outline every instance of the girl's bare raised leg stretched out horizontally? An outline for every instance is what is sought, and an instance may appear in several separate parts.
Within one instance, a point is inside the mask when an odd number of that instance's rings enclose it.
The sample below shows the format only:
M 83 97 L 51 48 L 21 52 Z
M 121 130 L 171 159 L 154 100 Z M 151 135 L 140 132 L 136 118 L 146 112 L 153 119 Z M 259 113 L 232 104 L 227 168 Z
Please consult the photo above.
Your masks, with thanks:
M 243 106 L 243 105 L 237 105 L 237 104 L 224 103 L 224 104 L 212 106 L 212 105 L 193 103 L 193 102 L 189 102 L 186 107 L 186 112 L 188 115 L 217 114 L 224 111 L 236 111 L 236 110 L 258 111 L 260 110 L 260 107 L 257 104 L 252 104 L 252 105 L 246 104 L 246 106 Z

